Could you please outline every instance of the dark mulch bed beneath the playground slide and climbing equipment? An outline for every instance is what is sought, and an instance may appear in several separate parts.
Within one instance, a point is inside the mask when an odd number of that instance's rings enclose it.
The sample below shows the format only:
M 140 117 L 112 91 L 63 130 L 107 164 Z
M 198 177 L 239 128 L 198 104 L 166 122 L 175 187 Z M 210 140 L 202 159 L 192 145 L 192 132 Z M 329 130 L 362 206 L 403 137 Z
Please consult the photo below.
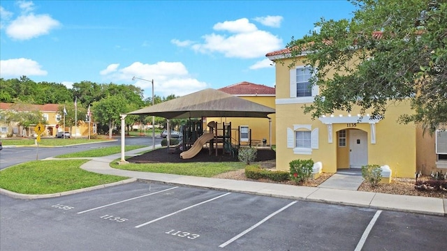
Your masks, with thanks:
M 275 158 L 276 154 L 272 149 L 258 149 L 255 162 L 274 160 Z M 133 163 L 239 162 L 237 154 L 233 158 L 233 156 L 229 155 L 228 153 L 224 154 L 222 152 L 222 149 L 218 149 L 217 156 L 214 151 L 210 155 L 208 149 L 202 149 L 202 151 L 200 151 L 200 153 L 198 153 L 193 158 L 184 160 L 180 158 L 180 151 L 168 153 L 168 149 L 166 148 L 155 149 L 154 151 L 149 151 L 142 155 L 128 158 L 126 160 Z

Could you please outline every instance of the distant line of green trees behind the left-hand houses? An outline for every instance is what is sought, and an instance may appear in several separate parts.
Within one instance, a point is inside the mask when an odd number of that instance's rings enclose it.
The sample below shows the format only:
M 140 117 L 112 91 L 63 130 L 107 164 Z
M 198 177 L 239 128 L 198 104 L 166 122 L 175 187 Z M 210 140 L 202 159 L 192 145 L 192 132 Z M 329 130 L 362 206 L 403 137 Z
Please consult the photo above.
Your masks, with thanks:
M 174 94 L 167 97 L 154 96 L 154 105 L 167 100 L 177 98 Z M 77 109 L 75 109 L 75 100 Z M 55 82 L 34 82 L 26 76 L 15 79 L 0 78 L 0 102 L 14 103 L 15 107 L 24 105 L 59 104 L 59 114 L 64 114 L 66 109 L 66 125 L 75 126 L 75 110 L 77 111 L 78 123 L 86 119 L 87 109 L 93 114 L 94 121 L 98 123 L 98 133 L 108 132 L 112 136 L 113 128 L 119 128 L 119 114 L 132 112 L 142 107 L 152 105 L 152 98 L 144 98 L 143 90 L 132 84 L 98 84 L 95 82 L 82 81 L 73 84 L 68 89 L 64 84 Z M 20 104 L 20 105 L 19 105 Z M 1 111 L 0 111 L 1 112 Z M 16 116 L 11 113 L 4 114 L 10 121 L 17 121 Z M 18 115 L 20 117 L 20 114 Z M 38 116 L 37 116 L 38 117 Z M 34 124 L 38 121 L 36 117 L 32 121 L 21 119 L 22 126 Z M 45 122 L 45 121 L 41 121 Z M 172 126 L 182 123 L 181 120 L 171 120 Z M 152 116 L 126 116 L 126 129 L 129 131 L 134 123 L 152 123 Z M 156 117 L 156 125 L 166 127 L 166 119 Z

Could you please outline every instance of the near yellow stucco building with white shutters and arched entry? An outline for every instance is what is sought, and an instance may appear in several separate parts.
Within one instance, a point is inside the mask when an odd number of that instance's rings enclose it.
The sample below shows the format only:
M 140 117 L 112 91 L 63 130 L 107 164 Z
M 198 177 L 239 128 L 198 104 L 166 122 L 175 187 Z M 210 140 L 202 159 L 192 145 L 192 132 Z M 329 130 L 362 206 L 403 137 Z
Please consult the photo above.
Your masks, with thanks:
M 289 68 L 293 60 L 289 55 L 288 50 L 266 55 L 274 62 L 281 60 L 275 66 L 277 169 L 288 170 L 288 163 L 297 159 L 321 162 L 314 172 L 380 165 L 382 176 L 388 176 L 389 181 L 447 168 L 446 132 L 437 132 L 442 138 L 436 137 L 436 141 L 428 133 L 422 136 L 418 126 L 397 123 L 398 116 L 411 114 L 409 102 L 390 102 L 386 119 L 361 116 L 360 109 L 337 111 L 318 119 L 304 114 L 303 106 L 314 101 L 318 86 L 307 88 L 309 66 L 304 65 L 301 56 Z

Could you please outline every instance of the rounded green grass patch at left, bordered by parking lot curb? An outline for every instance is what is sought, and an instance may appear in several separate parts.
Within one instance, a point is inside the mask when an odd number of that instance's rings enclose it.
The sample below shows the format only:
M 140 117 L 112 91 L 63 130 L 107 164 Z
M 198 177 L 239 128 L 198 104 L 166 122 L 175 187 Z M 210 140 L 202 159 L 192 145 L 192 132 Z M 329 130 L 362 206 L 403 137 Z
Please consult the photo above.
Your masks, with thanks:
M 122 181 L 126 177 L 80 169 L 89 160 L 34 160 L 1 170 L 0 188 L 27 195 L 45 195 Z

